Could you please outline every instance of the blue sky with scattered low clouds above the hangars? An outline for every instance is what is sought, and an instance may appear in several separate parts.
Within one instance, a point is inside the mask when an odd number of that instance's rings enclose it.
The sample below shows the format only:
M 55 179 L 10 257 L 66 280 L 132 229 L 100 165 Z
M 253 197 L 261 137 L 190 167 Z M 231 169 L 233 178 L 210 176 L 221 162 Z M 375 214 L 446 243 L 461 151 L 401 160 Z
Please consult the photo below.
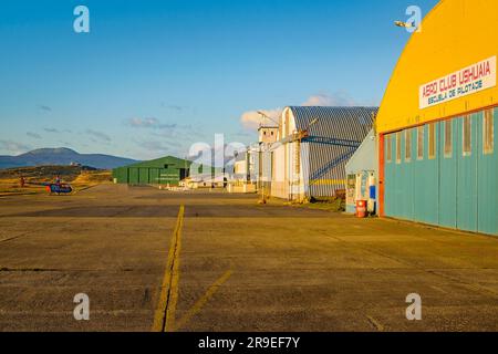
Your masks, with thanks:
M 70 147 L 147 159 L 250 143 L 256 110 L 378 105 L 437 0 L 39 0 L 0 4 L 0 155 Z M 90 33 L 73 9 L 90 9 Z M 243 122 L 241 122 L 243 117 Z

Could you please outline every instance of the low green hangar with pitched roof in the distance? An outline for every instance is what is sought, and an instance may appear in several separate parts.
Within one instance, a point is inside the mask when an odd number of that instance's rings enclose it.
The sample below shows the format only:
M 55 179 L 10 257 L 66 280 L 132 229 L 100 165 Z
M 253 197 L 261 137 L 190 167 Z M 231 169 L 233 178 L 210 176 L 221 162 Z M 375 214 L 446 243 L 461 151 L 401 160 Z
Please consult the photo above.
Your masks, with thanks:
M 177 186 L 180 180 L 190 176 L 190 168 L 197 168 L 195 173 L 203 174 L 203 167 L 186 159 L 166 156 L 115 168 L 113 177 L 118 184 Z M 208 171 L 209 167 L 205 169 Z

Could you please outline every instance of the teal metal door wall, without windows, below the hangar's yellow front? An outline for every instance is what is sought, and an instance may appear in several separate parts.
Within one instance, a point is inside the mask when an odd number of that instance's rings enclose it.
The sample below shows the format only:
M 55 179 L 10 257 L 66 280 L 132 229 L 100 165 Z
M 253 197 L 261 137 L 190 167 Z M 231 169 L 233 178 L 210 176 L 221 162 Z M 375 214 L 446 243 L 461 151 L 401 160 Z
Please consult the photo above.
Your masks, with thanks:
M 498 108 L 494 110 L 497 132 Z M 429 158 L 429 125 L 424 125 L 424 154 L 417 158 L 417 128 L 412 136 L 412 158 L 406 159 L 405 131 L 385 136 L 385 215 L 466 231 L 498 235 L 498 157 L 496 147 L 484 153 L 484 112 L 470 115 L 470 154 L 464 154 L 464 117 L 450 119 L 452 152 L 445 154 L 445 122 L 435 125 L 434 158 Z M 396 162 L 396 137 L 401 160 Z M 391 144 L 391 162 L 387 148 Z

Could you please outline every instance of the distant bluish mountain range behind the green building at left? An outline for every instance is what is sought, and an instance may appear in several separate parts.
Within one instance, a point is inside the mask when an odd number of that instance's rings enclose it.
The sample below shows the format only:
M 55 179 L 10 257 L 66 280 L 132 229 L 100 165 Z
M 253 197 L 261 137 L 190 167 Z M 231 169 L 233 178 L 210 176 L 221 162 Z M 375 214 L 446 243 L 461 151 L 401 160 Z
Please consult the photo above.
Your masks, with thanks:
M 137 160 L 102 154 L 79 154 L 66 147 L 39 148 L 18 156 L 1 156 L 0 168 L 81 164 L 100 169 L 112 169 Z

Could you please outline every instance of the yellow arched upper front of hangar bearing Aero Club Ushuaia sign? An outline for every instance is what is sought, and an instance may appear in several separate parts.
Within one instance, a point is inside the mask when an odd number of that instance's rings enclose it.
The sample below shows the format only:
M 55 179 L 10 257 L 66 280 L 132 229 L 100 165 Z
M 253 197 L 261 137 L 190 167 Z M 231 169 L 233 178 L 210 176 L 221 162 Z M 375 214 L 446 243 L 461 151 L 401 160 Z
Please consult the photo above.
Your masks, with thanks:
M 381 104 L 377 132 L 498 104 L 497 54 L 498 1 L 442 0 L 400 58 Z

